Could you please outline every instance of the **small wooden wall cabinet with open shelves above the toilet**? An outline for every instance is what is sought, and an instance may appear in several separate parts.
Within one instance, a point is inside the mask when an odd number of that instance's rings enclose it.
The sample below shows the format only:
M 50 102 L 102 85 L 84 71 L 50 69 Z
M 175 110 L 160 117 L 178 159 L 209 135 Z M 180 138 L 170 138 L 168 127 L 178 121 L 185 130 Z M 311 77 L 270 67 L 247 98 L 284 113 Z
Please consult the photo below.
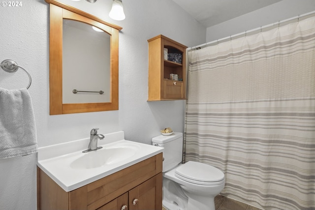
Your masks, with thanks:
M 149 43 L 149 81 L 148 101 L 186 99 L 186 46 L 163 35 L 148 40 Z M 167 60 L 167 53 L 180 54 L 181 62 Z M 177 74 L 173 80 L 170 74 Z

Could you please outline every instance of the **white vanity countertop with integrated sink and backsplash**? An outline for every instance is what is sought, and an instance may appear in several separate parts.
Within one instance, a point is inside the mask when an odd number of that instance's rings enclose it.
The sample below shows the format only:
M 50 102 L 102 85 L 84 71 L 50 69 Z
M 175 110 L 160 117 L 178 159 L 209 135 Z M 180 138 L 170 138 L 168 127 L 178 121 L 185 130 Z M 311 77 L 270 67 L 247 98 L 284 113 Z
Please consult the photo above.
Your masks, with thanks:
M 161 147 L 125 140 L 124 131 L 105 134 L 103 147 L 83 153 L 90 139 L 81 139 L 38 149 L 37 166 L 64 191 L 102 179 L 163 151 Z

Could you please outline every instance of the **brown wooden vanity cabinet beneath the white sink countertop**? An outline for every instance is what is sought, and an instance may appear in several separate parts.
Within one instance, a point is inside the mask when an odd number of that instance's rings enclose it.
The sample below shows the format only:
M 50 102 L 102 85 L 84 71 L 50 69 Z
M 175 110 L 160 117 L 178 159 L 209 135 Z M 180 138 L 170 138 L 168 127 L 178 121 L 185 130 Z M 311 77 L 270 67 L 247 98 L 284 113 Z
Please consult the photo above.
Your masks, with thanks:
M 37 167 L 37 210 L 162 210 L 162 153 L 70 192 Z

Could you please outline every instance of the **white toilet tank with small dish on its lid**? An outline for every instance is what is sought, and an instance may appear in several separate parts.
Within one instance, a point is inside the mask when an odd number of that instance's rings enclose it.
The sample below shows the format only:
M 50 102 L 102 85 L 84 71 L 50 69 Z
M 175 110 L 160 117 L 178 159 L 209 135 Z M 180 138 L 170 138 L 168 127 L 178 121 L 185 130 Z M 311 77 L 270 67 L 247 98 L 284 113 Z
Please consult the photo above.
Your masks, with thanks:
M 164 148 L 163 172 L 166 172 L 182 162 L 183 157 L 183 133 L 174 132 L 169 136 L 157 136 L 152 138 L 152 145 Z

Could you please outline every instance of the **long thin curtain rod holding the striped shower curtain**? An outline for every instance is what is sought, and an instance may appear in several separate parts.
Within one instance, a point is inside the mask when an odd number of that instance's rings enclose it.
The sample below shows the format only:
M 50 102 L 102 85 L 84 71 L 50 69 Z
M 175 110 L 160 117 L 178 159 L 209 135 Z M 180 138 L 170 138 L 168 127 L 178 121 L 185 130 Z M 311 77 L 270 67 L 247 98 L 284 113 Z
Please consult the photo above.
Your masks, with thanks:
M 192 50 L 196 50 L 197 48 L 201 48 L 201 47 L 204 47 L 204 46 L 207 46 L 207 45 L 211 45 L 211 44 L 214 44 L 214 43 L 219 43 L 223 40 L 227 40 L 227 39 L 231 39 L 231 38 L 234 38 L 236 36 L 241 36 L 241 35 L 244 35 L 244 34 L 247 34 L 247 33 L 251 33 L 251 32 L 254 32 L 256 30 L 263 30 L 265 28 L 268 28 L 268 27 L 272 27 L 272 26 L 275 26 L 275 25 L 280 25 L 282 23 L 285 23 L 285 22 L 288 22 L 288 21 L 292 21 L 294 19 L 298 19 L 299 18 L 302 18 L 302 17 L 305 17 L 305 16 L 308 16 L 308 15 L 313 15 L 315 14 L 315 11 L 313 12 L 309 12 L 309 13 L 305 13 L 303 15 L 298 15 L 298 16 L 295 16 L 293 18 L 288 18 L 288 19 L 285 19 L 283 21 L 278 21 L 276 23 L 273 23 L 273 24 L 269 24 L 269 25 L 266 25 L 266 26 L 262 26 L 262 27 L 259 27 L 259 28 L 256 28 L 256 29 L 252 29 L 252 30 L 246 30 L 244 32 L 241 32 L 241 33 L 237 33 L 237 34 L 234 34 L 234 35 L 231 35 L 231 36 L 227 36 L 227 37 L 224 37 L 224 38 L 221 38 L 221 39 L 217 39 L 217 40 L 214 40 L 214 41 L 211 41 L 211 42 L 207 42 L 207 43 L 204 43 L 204 44 L 201 44 L 201 45 L 198 45 L 198 46 L 195 46 L 195 47 L 190 47 L 187 49 L 187 51 L 192 51 Z

